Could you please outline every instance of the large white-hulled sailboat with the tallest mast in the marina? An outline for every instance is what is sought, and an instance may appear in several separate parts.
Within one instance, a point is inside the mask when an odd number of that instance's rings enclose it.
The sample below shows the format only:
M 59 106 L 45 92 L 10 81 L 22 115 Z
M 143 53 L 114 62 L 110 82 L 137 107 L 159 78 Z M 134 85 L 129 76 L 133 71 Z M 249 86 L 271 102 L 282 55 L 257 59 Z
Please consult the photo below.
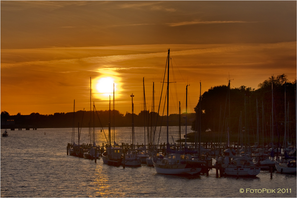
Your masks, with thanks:
M 170 49 L 168 49 L 168 68 L 167 68 L 167 145 L 166 152 L 170 153 L 167 157 L 157 158 L 154 157 L 153 163 L 157 173 L 160 174 L 191 174 L 194 175 L 201 171 L 201 167 L 198 164 L 189 163 L 192 160 L 190 154 L 186 154 L 184 151 L 173 151 L 170 149 L 169 144 L 169 62 L 170 62 Z

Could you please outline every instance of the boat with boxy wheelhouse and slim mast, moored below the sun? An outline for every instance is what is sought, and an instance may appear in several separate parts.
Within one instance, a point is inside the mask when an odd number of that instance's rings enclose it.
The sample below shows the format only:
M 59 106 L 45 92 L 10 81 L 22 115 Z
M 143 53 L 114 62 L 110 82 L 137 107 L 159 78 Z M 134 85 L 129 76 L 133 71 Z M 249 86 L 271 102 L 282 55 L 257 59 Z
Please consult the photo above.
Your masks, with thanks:
M 108 137 L 109 145 L 106 148 L 107 151 L 102 153 L 103 164 L 108 164 L 112 166 L 120 166 L 123 160 L 122 148 L 119 146 L 111 146 L 111 136 L 110 136 L 110 96 L 109 96 L 109 122 L 108 122 Z

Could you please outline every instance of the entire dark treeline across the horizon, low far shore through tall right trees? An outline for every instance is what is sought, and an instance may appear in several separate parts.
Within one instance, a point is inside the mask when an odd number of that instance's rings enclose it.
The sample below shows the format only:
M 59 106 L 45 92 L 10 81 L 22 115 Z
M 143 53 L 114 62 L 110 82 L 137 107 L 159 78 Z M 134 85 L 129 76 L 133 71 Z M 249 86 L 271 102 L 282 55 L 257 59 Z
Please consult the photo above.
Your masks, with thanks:
M 255 135 L 257 132 L 257 104 L 258 101 L 258 115 L 260 121 L 260 131 L 262 131 L 262 102 L 264 112 L 264 130 L 266 134 L 270 135 L 270 123 L 271 123 L 271 105 L 272 105 L 272 89 L 271 89 L 271 77 L 258 85 L 258 89 L 252 89 L 242 85 L 239 88 L 230 88 L 230 94 L 228 92 L 228 85 L 219 85 L 211 87 L 208 91 L 204 92 L 201 96 L 201 131 L 203 133 L 211 132 L 223 132 L 226 130 L 226 122 L 230 128 L 230 135 L 238 133 L 239 119 L 241 116 L 242 126 L 247 126 L 248 134 Z M 285 83 L 286 82 L 286 83 Z M 287 127 L 290 137 L 294 139 L 296 137 L 296 117 L 295 117 L 295 88 L 296 79 L 294 82 L 287 80 L 287 75 L 282 74 L 277 77 L 273 77 L 273 96 L 274 96 L 274 137 L 284 135 L 284 121 L 285 121 L 285 84 L 286 84 L 286 113 L 287 113 Z M 229 95 L 230 95 L 230 119 L 229 119 Z M 196 113 L 188 114 L 188 125 L 192 123 L 192 129 L 195 130 L 196 115 L 199 115 L 199 102 L 194 108 Z M 289 108 L 288 108 L 289 106 Z M 166 126 L 166 116 L 158 115 L 152 112 L 149 113 L 149 121 L 144 123 L 144 112 L 141 111 L 138 115 L 134 114 L 135 126 L 142 127 L 144 124 L 151 126 L 152 118 L 155 123 L 157 120 L 157 126 Z M 98 113 L 98 115 L 97 115 Z M 97 113 L 91 112 L 94 126 L 108 127 L 109 111 L 100 110 Z M 126 112 L 126 114 L 120 113 L 115 110 L 115 127 L 130 127 L 132 126 L 132 115 Z M 148 112 L 147 112 L 148 114 Z M 99 119 L 101 124 L 99 122 Z M 185 113 L 181 115 L 181 122 L 185 123 L 182 118 Z M 111 120 L 113 117 L 113 111 L 111 110 Z M 74 114 L 69 113 L 54 113 L 53 115 L 41 115 L 39 113 L 31 113 L 30 115 L 9 115 L 7 112 L 1 112 L 1 128 L 5 128 L 3 119 L 13 119 L 15 126 L 8 126 L 7 128 L 18 128 L 18 126 L 33 126 L 35 128 L 71 128 L 74 124 L 78 127 L 78 122 L 82 127 L 89 127 L 90 124 L 90 111 L 77 111 Z M 178 126 L 179 115 L 169 115 L 169 125 Z M 223 124 L 223 121 L 225 122 Z M 7 123 L 6 123 L 7 124 Z M 182 124 L 184 125 L 184 124 Z M 220 125 L 220 126 L 219 126 Z M 111 121 L 111 126 L 113 123 Z M 91 123 L 93 127 L 93 122 Z M 223 127 L 223 129 L 222 129 Z M 211 130 L 208 130 L 211 129 Z M 220 129 L 220 130 L 219 130 Z M 207 131 L 207 132 L 206 132 Z M 252 137 L 249 137 L 252 138 Z M 251 142 L 253 139 L 251 139 Z

